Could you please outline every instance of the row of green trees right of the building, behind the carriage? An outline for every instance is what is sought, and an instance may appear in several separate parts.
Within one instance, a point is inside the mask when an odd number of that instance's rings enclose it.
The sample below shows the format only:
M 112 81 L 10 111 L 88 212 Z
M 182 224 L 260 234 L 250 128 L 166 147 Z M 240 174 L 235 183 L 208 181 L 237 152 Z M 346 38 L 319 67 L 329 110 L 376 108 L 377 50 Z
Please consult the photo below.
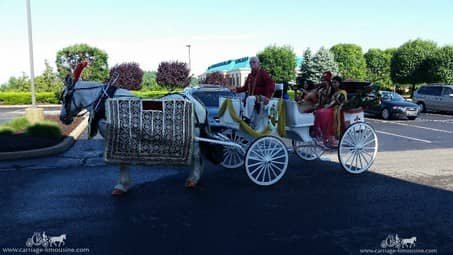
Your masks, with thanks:
M 291 72 L 296 58 L 290 46 L 270 46 L 258 56 L 277 82 L 298 78 L 317 83 L 322 73 L 330 70 L 344 79 L 374 82 L 382 89 L 410 84 L 414 91 L 417 84 L 453 83 L 453 46 L 439 47 L 433 41 L 421 39 L 398 48 L 369 49 L 366 53 L 355 44 L 321 47 L 316 53 L 308 48 L 303 53 L 299 77 Z M 294 64 L 284 67 L 281 63 Z

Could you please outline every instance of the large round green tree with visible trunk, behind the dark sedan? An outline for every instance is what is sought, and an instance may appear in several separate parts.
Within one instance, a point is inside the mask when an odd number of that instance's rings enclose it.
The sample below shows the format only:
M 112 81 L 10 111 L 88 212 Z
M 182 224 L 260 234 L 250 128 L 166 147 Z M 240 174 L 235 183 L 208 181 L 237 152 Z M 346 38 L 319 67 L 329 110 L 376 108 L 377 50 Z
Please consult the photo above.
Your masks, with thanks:
M 393 54 L 390 66 L 390 75 L 395 83 L 412 84 L 411 95 L 415 85 L 430 82 L 432 74 L 426 68 L 426 61 L 437 51 L 437 44 L 433 41 L 417 39 L 401 45 Z

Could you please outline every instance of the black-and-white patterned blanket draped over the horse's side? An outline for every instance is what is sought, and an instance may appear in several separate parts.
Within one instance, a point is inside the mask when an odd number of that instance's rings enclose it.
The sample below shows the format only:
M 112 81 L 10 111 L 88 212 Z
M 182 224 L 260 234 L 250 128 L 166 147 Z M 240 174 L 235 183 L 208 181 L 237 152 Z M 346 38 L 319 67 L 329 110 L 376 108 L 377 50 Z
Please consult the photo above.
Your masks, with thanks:
M 105 160 L 190 164 L 192 103 L 187 100 L 109 99 Z

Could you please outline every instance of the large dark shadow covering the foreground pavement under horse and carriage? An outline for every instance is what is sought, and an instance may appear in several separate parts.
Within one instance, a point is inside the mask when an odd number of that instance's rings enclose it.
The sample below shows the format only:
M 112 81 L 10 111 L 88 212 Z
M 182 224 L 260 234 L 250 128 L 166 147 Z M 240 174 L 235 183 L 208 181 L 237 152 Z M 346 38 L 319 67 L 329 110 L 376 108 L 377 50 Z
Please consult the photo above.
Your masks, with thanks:
M 292 157 L 276 185 L 258 187 L 243 169 L 210 163 L 201 185 L 188 169 L 109 194 L 111 169 L 0 173 L 4 247 L 25 247 L 34 232 L 67 234 L 66 247 L 94 254 L 360 254 L 389 234 L 416 236 L 417 249 L 453 249 L 453 193 L 338 163 Z M 153 171 L 149 169 L 149 171 Z

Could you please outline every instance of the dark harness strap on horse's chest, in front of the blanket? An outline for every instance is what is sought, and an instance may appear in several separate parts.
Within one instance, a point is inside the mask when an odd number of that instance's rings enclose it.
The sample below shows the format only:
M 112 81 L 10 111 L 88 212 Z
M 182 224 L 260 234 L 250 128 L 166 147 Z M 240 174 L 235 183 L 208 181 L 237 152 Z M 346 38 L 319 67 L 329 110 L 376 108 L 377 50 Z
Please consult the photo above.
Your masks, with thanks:
M 101 90 L 99 97 L 93 102 L 93 112 L 89 119 L 88 137 L 93 137 L 97 134 L 98 123 L 101 119 L 105 118 L 105 102 L 108 98 L 113 97 L 118 87 L 116 86 L 104 86 Z

